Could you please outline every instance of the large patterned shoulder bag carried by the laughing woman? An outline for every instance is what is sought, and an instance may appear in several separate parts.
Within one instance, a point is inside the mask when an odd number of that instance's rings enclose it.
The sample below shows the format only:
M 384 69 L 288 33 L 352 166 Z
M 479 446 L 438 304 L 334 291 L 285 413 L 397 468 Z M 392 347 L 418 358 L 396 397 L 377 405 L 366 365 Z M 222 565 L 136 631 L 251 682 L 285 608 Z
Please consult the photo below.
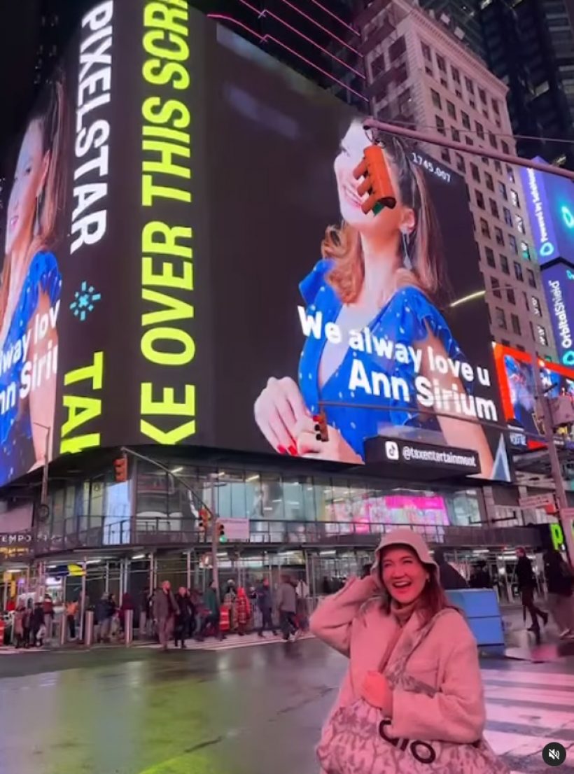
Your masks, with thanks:
M 380 671 L 390 687 L 430 697 L 437 693 L 434 687 L 405 671 L 414 650 L 445 612 L 435 615 L 414 637 L 405 639 L 391 666 L 389 651 L 393 648 L 387 648 Z M 363 698 L 340 707 L 326 724 L 317 748 L 325 774 L 510 774 L 484 738 L 473 744 L 397 739 L 387 732 L 391 722 L 382 710 Z

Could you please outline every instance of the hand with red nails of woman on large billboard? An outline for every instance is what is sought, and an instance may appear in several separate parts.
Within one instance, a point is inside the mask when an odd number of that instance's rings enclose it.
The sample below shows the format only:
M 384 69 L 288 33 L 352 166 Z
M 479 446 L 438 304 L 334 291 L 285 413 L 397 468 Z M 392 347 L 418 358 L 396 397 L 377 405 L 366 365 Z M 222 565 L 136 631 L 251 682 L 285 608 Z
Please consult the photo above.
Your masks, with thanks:
M 297 456 L 295 427 L 311 419 L 301 391 L 293 379 L 271 377 L 256 399 L 255 421 L 266 439 L 280 454 Z

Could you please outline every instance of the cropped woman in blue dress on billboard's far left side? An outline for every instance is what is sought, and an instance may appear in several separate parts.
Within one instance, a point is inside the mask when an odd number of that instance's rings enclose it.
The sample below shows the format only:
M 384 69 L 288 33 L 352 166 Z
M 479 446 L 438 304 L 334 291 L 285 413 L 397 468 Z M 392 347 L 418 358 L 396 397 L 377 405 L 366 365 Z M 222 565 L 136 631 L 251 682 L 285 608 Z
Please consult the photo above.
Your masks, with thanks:
M 0 276 L 0 484 L 41 464 L 46 440 L 51 442 L 62 285 L 51 249 L 63 201 L 63 142 L 64 86 L 55 80 L 29 119 L 6 207 Z

